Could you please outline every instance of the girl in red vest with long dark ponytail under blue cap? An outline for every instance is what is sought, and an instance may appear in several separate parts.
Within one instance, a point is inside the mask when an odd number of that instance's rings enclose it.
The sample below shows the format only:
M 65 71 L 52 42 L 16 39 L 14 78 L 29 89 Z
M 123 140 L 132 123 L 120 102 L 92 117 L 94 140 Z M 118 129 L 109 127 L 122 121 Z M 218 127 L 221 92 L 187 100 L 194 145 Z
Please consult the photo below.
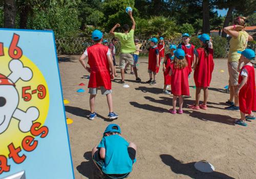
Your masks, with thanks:
M 197 49 L 196 62 L 194 64 L 194 81 L 196 84 L 196 102 L 189 108 L 199 110 L 207 109 L 208 87 L 211 74 L 214 71 L 214 50 L 209 48 L 210 37 L 207 34 L 199 35 L 201 48 Z M 204 90 L 204 102 L 199 105 L 201 89 Z

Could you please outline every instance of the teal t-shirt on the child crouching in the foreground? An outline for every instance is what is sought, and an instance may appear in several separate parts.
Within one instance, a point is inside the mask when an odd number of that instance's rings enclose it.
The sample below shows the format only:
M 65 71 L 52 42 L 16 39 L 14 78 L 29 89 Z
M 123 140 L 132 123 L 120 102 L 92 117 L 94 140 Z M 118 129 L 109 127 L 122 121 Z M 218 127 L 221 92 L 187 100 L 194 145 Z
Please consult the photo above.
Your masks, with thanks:
M 104 136 L 98 147 L 105 148 L 102 171 L 106 174 L 130 173 L 133 161 L 128 154 L 129 143 L 119 135 Z

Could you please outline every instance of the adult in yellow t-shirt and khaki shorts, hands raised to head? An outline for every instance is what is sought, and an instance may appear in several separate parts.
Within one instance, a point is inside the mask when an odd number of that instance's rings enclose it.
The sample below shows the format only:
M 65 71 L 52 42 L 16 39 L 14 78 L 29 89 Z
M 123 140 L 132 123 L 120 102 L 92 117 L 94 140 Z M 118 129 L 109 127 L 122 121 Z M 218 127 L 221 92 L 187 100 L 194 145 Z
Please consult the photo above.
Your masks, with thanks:
M 230 98 L 226 102 L 230 106 L 225 107 L 227 110 L 239 110 L 239 100 L 236 91 L 238 90 L 239 71 L 243 64 L 240 61 L 241 54 L 237 51 L 244 51 L 247 47 L 247 42 L 253 40 L 247 32 L 243 31 L 245 26 L 246 18 L 239 16 L 234 19 L 233 26 L 228 26 L 223 29 L 225 33 L 232 37 L 229 41 L 230 49 L 227 63 L 230 87 Z

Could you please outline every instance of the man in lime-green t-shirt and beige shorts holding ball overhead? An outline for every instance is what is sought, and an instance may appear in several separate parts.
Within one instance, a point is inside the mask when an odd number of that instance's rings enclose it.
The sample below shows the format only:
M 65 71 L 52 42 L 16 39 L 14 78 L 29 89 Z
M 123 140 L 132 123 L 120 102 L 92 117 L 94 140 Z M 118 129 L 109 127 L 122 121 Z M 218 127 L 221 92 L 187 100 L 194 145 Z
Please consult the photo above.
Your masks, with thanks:
M 120 27 L 120 24 L 116 24 L 110 31 L 115 37 L 119 38 L 121 42 L 121 54 L 119 56 L 119 66 L 121 69 L 121 81 L 124 83 L 124 68 L 125 63 L 133 65 L 134 74 L 136 76 L 136 82 L 140 82 L 141 79 L 138 77 L 136 65 L 134 65 L 133 53 L 136 52 L 136 47 L 134 44 L 134 30 L 135 30 L 135 20 L 133 18 L 132 11 L 129 11 L 129 16 L 132 20 L 133 26 L 130 30 L 129 25 L 125 24 L 122 27 L 123 33 L 114 32 L 116 28 Z M 130 32 L 129 32 L 130 30 Z

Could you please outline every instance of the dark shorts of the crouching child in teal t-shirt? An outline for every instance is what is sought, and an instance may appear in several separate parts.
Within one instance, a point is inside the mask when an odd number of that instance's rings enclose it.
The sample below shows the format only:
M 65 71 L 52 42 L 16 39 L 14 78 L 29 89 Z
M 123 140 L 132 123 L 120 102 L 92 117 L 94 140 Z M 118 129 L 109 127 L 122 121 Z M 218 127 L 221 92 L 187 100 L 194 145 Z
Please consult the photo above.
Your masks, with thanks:
M 135 157 L 136 157 L 136 150 L 132 147 L 128 147 L 127 150 L 128 150 L 128 154 L 129 154 L 131 160 L 134 163 L 134 160 L 135 160 Z M 99 148 L 94 153 L 93 160 L 97 164 L 97 166 L 100 168 L 100 170 L 102 171 L 104 160 L 101 159 L 101 157 L 100 157 Z M 105 174 L 104 172 L 102 172 L 102 173 L 104 174 L 104 176 L 106 178 L 111 178 L 111 179 L 114 179 L 114 178 L 118 178 L 118 179 L 120 178 L 121 179 L 121 178 L 125 178 L 129 175 L 129 173 L 124 173 L 124 174 Z

